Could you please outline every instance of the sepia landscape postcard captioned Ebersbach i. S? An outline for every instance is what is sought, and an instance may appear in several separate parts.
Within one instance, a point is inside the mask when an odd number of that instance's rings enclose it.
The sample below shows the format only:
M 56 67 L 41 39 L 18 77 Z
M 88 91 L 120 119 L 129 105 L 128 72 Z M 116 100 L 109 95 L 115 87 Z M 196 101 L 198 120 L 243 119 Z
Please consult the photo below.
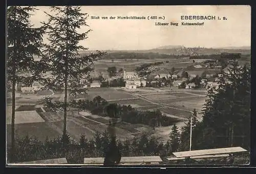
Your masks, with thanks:
M 250 164 L 250 6 L 6 16 L 6 166 Z

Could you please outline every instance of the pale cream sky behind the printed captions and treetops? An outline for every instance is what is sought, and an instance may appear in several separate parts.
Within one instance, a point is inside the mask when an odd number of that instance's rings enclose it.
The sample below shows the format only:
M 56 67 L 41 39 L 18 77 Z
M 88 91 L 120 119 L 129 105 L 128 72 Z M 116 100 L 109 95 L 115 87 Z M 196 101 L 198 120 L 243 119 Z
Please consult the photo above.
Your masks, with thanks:
M 36 27 L 47 21 L 47 6 L 37 6 L 31 16 Z M 250 6 L 82 6 L 88 13 L 89 38 L 80 44 L 89 50 L 147 50 L 162 46 L 242 47 L 251 45 Z M 182 15 L 210 15 L 216 20 L 181 20 Z M 100 19 L 91 19 L 99 16 Z M 107 16 L 109 19 L 101 19 Z M 145 16 L 146 19 L 110 19 L 110 16 Z M 147 19 L 164 16 L 164 19 Z M 218 20 L 217 17 L 227 20 Z M 156 26 L 155 23 L 178 23 L 178 26 Z M 181 23 L 203 23 L 203 26 L 182 26 Z M 47 42 L 47 40 L 45 39 Z

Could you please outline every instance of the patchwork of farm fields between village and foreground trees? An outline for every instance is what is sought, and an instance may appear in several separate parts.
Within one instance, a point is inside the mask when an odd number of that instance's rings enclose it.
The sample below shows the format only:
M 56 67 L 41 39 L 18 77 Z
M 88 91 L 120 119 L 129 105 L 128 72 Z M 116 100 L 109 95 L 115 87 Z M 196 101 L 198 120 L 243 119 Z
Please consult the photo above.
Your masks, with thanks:
M 130 104 L 132 107 L 137 108 L 137 110 L 143 111 L 159 109 L 168 117 L 181 118 L 181 122 L 177 123 L 178 125 L 181 125 L 182 122 L 184 123 L 184 118 L 188 118 L 194 108 L 198 111 L 200 110 L 202 103 L 204 103 L 205 100 L 205 94 L 205 91 L 185 91 L 179 89 L 169 91 L 169 88 L 167 88 L 167 90 L 164 88 L 144 88 L 136 90 L 100 88 L 89 89 L 88 95 L 84 97 L 91 100 L 96 96 L 101 96 L 109 102 L 116 102 L 121 105 Z M 27 95 L 26 97 L 32 98 L 33 96 L 39 97 L 36 95 Z M 54 94 L 53 97 L 60 99 L 63 98 L 63 95 Z M 35 108 L 35 104 L 33 105 L 33 102 L 29 103 L 30 101 L 30 99 L 27 99 L 26 103 L 31 104 L 30 106 L 19 104 L 20 106 L 16 108 L 16 112 L 32 111 L 33 113 L 38 113 L 35 115 L 44 122 L 36 122 L 32 117 L 30 117 L 31 123 L 15 125 L 17 127 L 16 136 L 36 136 L 39 140 L 44 141 L 46 136 L 48 136 L 48 138 L 56 138 L 58 135 L 61 135 L 63 128 L 63 113 L 52 113 L 47 112 L 47 110 L 44 112 L 40 109 L 41 106 L 37 106 L 39 108 Z M 10 117 L 7 118 L 9 118 L 10 122 Z M 16 119 L 18 118 L 16 117 Z M 84 134 L 86 138 L 91 139 L 96 132 L 103 133 L 108 129 L 109 120 L 110 118 L 108 117 L 92 115 L 90 112 L 79 112 L 79 114 L 77 112 L 69 112 L 67 131 L 75 140 L 79 140 L 82 134 Z M 16 123 L 18 123 L 18 121 L 16 121 Z M 7 128 L 9 131 L 10 125 L 8 125 Z M 168 139 L 170 128 L 171 126 L 159 127 L 154 131 L 150 126 L 118 122 L 116 125 L 116 136 L 120 140 L 125 140 L 141 136 L 142 133 L 152 134 L 155 132 L 153 135 L 165 140 Z M 10 131 L 8 134 L 10 134 Z

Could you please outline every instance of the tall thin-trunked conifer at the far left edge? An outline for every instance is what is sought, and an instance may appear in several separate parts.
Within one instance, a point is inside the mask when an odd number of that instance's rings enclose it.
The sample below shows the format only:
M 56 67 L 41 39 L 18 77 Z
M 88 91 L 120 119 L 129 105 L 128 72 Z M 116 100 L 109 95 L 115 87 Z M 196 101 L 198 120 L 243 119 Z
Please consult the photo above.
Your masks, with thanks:
M 11 152 L 15 154 L 15 85 L 31 85 L 36 78 L 33 56 L 40 56 L 43 28 L 33 28 L 30 12 L 34 7 L 12 6 L 7 9 L 7 81 L 12 83 Z M 32 77 L 26 73 L 32 74 Z M 13 155 L 11 161 L 14 161 Z

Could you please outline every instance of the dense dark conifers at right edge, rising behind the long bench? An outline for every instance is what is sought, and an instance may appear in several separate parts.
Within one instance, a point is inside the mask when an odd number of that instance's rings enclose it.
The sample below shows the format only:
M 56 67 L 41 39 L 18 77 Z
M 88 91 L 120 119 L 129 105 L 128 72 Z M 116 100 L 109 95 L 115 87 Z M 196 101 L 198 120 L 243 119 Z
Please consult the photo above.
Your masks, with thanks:
M 203 120 L 193 130 L 194 148 L 250 148 L 250 67 L 231 62 L 228 71 L 219 88 L 208 91 Z

